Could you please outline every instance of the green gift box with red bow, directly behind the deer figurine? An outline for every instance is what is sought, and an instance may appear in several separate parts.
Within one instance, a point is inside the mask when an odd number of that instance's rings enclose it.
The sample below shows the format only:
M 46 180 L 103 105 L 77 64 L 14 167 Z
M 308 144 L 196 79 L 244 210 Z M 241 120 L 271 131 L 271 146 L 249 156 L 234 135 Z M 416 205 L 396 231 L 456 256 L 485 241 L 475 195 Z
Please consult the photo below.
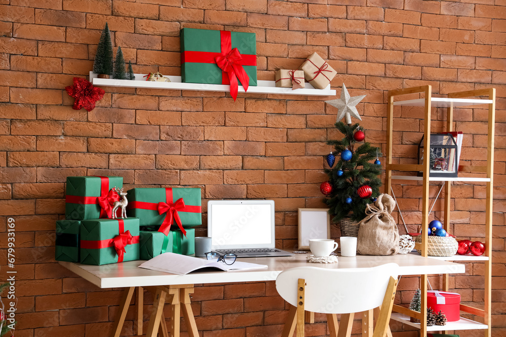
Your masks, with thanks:
M 113 187 L 123 187 L 122 177 L 67 177 L 65 196 L 65 218 L 69 220 L 88 220 L 109 218 L 112 202 L 119 200 Z M 99 205 L 105 205 L 102 209 Z

